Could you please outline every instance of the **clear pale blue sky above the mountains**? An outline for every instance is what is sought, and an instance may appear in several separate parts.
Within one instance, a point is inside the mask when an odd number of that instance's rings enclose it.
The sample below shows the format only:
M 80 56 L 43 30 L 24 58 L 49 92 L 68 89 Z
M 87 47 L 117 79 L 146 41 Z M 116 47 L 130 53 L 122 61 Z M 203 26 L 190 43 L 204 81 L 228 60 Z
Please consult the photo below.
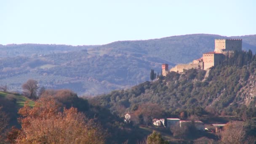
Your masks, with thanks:
M 0 44 L 256 34 L 256 0 L 0 0 Z

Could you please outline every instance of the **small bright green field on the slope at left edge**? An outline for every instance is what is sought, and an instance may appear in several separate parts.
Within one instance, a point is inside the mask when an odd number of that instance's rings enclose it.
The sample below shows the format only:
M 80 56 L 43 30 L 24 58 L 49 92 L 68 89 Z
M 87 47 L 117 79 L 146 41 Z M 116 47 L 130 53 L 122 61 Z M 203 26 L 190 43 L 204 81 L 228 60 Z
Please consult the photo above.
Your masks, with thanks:
M 21 107 L 24 107 L 24 104 L 27 103 L 30 107 L 34 107 L 35 105 L 35 102 L 28 99 L 27 97 L 25 96 L 22 96 L 18 93 L 5 93 L 5 92 L 1 92 L 0 91 L 0 97 L 2 98 L 5 98 L 5 99 L 12 99 L 14 101 L 16 101 L 16 104 L 17 104 L 17 107 L 18 108 L 21 108 Z

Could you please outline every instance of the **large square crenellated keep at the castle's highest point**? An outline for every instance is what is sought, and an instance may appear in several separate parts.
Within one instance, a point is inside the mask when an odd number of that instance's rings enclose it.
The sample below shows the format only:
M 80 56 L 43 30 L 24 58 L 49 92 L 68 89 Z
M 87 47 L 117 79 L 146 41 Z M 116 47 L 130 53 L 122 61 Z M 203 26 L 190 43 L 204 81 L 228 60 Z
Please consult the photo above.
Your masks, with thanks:
M 242 39 L 215 39 L 214 52 L 242 51 Z

